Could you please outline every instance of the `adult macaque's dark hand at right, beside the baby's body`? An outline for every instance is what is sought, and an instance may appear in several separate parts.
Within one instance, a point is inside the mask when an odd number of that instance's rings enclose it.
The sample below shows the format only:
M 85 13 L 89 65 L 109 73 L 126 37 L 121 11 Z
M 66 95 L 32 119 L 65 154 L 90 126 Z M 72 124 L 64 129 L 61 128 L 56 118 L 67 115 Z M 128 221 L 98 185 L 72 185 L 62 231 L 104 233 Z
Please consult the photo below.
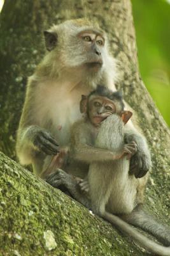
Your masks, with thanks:
M 146 175 L 150 167 L 150 156 L 136 152 L 136 154 L 134 154 L 131 159 L 129 174 L 134 174 L 136 178 L 142 178 Z

